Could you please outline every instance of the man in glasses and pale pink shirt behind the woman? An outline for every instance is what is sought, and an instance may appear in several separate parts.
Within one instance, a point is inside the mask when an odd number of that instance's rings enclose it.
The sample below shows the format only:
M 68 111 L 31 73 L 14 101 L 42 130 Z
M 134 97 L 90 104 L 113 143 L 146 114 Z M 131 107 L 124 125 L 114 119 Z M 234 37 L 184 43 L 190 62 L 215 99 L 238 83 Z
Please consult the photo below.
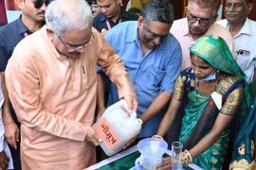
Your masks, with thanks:
M 187 17 L 174 21 L 170 31 L 181 44 L 182 69 L 191 66 L 189 47 L 201 36 L 221 37 L 228 43 L 230 51 L 234 51 L 229 31 L 214 23 L 219 5 L 218 0 L 189 0 Z

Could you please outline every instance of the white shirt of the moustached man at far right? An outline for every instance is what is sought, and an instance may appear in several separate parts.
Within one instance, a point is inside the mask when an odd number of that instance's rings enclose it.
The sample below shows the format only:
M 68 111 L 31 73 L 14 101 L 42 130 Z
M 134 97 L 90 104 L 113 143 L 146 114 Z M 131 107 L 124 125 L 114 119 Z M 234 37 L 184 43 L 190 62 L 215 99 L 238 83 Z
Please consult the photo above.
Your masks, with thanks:
M 229 29 L 227 20 L 217 21 L 221 26 Z M 238 34 L 233 36 L 237 62 L 247 75 L 247 82 L 252 81 L 256 67 L 256 22 L 247 18 Z

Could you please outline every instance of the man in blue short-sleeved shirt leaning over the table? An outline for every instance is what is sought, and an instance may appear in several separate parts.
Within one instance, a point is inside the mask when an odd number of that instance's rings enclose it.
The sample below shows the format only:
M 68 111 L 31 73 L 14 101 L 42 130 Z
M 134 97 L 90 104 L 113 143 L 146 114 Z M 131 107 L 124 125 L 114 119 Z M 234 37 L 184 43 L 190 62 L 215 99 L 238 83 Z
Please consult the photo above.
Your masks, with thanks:
M 169 30 L 174 8 L 168 0 L 152 0 L 138 21 L 113 27 L 105 39 L 114 46 L 137 93 L 137 116 L 143 121 L 138 138 L 156 133 L 181 68 L 181 48 Z M 108 105 L 119 100 L 114 84 Z

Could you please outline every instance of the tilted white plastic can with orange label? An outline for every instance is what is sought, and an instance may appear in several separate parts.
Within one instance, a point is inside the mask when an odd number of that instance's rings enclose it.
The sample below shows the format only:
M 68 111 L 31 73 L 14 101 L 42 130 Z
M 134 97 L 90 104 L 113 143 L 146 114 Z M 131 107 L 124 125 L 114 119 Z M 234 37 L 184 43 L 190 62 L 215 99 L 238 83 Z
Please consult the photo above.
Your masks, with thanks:
M 118 153 L 141 129 L 142 121 L 137 119 L 137 113 L 130 115 L 124 107 L 127 107 L 125 100 L 108 107 L 95 125 L 102 140 L 101 148 L 107 156 Z

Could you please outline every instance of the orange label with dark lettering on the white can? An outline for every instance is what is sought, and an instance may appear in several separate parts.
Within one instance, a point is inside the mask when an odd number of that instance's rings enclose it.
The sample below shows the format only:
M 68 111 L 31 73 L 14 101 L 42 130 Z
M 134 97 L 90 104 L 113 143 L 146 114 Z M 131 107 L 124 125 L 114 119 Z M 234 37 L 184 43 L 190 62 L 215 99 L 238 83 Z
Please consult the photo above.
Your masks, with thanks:
M 110 127 L 106 118 L 101 117 L 95 129 L 99 133 L 101 140 L 109 149 L 112 149 L 115 145 L 119 144 L 119 135 L 112 127 Z

